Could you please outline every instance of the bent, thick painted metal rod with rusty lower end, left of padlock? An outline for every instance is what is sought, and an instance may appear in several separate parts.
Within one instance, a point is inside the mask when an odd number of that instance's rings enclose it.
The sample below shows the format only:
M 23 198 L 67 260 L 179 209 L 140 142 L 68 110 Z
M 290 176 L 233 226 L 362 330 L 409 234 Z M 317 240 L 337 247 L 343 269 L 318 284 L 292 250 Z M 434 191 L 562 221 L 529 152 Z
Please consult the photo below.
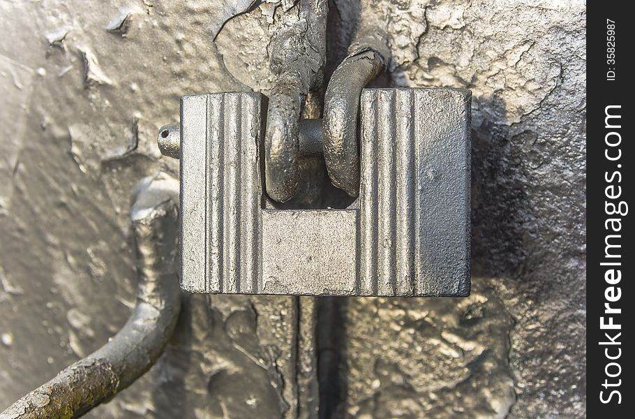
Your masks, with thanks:
M 104 346 L 63 369 L 0 413 L 2 419 L 77 418 L 112 399 L 163 353 L 179 317 L 175 272 L 178 182 L 165 174 L 137 186 L 130 209 L 139 285 L 124 328 Z

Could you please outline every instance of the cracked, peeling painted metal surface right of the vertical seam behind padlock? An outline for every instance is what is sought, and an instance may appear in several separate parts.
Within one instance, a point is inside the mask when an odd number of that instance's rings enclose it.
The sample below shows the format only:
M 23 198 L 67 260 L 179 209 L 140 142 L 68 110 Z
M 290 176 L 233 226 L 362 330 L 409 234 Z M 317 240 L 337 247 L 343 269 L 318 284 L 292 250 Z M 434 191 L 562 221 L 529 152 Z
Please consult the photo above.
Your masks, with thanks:
M 473 98 L 469 304 L 335 298 L 333 417 L 584 417 L 584 2 L 335 3 L 335 62 L 370 20 L 389 85 Z

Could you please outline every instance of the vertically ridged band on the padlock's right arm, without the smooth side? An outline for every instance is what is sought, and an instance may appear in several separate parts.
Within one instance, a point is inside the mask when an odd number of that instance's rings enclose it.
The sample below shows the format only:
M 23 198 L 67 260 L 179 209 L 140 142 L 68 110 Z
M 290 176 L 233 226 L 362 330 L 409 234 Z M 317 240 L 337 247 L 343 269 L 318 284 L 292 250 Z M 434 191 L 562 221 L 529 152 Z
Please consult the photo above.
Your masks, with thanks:
M 360 288 L 363 293 L 414 291 L 413 95 L 405 90 L 365 93 L 361 147 Z M 368 102 L 370 100 L 370 102 Z M 370 106 L 368 106 L 370 105 Z

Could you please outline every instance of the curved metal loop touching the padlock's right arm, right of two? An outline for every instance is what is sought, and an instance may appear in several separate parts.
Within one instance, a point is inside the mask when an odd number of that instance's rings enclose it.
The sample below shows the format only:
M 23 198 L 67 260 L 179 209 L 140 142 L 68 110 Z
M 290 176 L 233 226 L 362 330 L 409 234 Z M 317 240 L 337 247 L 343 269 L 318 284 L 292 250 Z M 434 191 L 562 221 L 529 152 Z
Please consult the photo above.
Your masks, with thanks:
M 359 96 L 385 65 L 382 54 L 373 48 L 358 50 L 336 68 L 324 95 L 324 163 L 331 182 L 353 197 L 359 195 Z

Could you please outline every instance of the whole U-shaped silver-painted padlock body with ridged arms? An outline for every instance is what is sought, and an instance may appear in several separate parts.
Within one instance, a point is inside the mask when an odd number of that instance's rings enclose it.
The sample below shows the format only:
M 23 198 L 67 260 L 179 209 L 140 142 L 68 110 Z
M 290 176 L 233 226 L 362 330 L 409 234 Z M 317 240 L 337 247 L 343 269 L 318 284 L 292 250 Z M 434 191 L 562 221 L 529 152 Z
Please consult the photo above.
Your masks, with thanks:
M 462 89 L 362 91 L 359 198 L 276 210 L 262 187 L 262 96 L 184 96 L 181 288 L 469 295 L 470 101 Z

